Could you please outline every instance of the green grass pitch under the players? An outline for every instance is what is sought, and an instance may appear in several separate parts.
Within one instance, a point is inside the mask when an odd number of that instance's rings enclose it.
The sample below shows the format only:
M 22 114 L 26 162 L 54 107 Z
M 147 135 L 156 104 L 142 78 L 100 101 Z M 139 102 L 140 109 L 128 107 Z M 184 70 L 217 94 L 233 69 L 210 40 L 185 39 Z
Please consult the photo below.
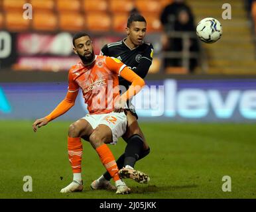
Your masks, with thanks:
M 135 168 L 149 174 L 151 182 L 125 180 L 130 195 L 90 189 L 105 170 L 83 142 L 84 191 L 62 194 L 72 180 L 66 140 L 70 123 L 54 121 L 34 133 L 32 121 L 0 121 L 0 199 L 256 197 L 256 125 L 229 123 L 141 123 L 151 153 Z M 125 142 L 109 146 L 117 158 Z M 23 191 L 24 176 L 32 177 L 32 192 Z M 223 176 L 231 177 L 230 192 L 222 191 Z

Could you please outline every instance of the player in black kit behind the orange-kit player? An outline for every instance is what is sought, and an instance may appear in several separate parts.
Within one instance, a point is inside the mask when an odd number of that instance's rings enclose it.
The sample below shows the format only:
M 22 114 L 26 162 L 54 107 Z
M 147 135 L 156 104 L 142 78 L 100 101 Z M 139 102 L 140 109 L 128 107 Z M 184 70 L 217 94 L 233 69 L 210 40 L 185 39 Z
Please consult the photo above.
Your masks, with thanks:
M 141 78 L 145 78 L 152 64 L 154 51 L 152 44 L 143 41 L 146 30 L 145 18 L 137 13 L 131 15 L 127 21 L 127 37 L 118 42 L 106 44 L 101 49 L 101 54 L 121 60 Z M 125 86 L 127 90 L 131 83 L 119 77 L 119 85 Z M 149 176 L 133 168 L 137 160 L 149 154 L 150 148 L 139 128 L 134 106 L 130 102 L 127 105 L 129 108 L 127 109 L 127 131 L 122 136 L 127 142 L 127 146 L 125 153 L 117 159 L 119 176 L 147 184 Z M 91 187 L 92 189 L 116 189 L 115 186 L 110 184 L 110 180 L 111 176 L 108 172 L 105 172 L 103 176 L 92 182 Z

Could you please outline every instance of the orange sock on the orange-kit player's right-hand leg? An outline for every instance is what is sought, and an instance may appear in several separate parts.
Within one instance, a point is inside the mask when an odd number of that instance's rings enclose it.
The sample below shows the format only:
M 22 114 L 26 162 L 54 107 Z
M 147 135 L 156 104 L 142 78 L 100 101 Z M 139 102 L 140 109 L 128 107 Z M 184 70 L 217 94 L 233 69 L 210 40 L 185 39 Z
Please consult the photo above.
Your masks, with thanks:
M 109 172 L 113 180 L 120 180 L 118 176 L 117 163 L 115 162 L 115 158 L 111 150 L 108 148 L 107 144 L 102 144 L 101 146 L 97 147 L 96 151 L 99 155 L 101 163 L 105 166 L 107 172 Z

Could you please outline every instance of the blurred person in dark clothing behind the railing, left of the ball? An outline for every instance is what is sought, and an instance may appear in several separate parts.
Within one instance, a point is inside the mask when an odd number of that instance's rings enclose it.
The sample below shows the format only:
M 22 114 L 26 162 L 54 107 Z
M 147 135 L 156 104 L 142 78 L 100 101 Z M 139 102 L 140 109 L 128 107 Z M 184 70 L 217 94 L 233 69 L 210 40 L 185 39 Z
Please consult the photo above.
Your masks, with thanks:
M 194 16 L 190 7 L 183 0 L 175 0 L 173 3 L 166 5 L 160 15 L 160 21 L 164 26 L 164 32 L 195 32 Z M 163 40 L 164 50 L 181 52 L 183 48 L 182 38 L 168 38 L 166 34 Z M 198 52 L 197 38 L 190 38 L 190 52 Z M 197 59 L 190 59 L 189 71 L 194 72 L 198 64 Z M 182 58 L 166 58 L 164 59 L 164 68 L 169 66 L 182 66 Z

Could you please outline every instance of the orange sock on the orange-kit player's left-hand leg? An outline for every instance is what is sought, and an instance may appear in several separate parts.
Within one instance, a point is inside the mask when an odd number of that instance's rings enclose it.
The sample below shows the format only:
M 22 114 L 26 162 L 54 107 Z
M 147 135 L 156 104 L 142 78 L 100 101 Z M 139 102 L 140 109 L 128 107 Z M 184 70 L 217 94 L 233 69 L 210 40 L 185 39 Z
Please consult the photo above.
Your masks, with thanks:
M 68 137 L 68 159 L 73 173 L 81 172 L 83 146 L 80 138 Z

